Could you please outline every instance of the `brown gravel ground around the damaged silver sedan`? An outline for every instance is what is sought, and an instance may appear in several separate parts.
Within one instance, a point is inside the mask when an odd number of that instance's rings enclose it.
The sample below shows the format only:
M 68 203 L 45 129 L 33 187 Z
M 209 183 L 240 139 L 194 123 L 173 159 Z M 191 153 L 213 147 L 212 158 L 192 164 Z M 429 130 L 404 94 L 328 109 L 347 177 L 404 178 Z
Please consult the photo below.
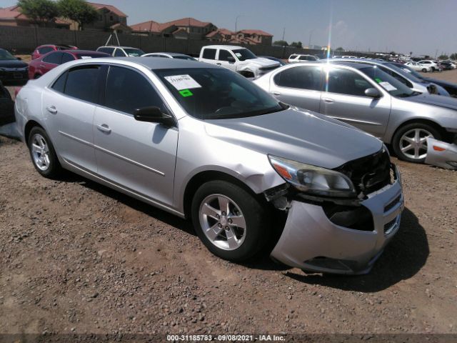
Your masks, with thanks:
M 214 257 L 190 225 L 0 137 L 0 332 L 457 333 L 457 172 L 398 163 L 406 210 L 371 274 Z

